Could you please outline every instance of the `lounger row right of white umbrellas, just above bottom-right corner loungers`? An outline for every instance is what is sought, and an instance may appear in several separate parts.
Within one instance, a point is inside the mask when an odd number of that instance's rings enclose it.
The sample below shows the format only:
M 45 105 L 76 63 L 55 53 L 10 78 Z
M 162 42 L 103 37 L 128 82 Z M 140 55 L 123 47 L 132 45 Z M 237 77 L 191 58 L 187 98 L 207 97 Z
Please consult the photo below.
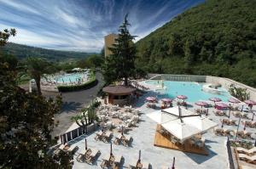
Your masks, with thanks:
M 230 130 L 230 129 L 214 128 L 214 133 L 218 136 L 236 137 L 236 131 L 235 130 Z M 238 131 L 237 132 L 237 137 L 251 139 L 252 134 L 253 134 L 252 132 Z

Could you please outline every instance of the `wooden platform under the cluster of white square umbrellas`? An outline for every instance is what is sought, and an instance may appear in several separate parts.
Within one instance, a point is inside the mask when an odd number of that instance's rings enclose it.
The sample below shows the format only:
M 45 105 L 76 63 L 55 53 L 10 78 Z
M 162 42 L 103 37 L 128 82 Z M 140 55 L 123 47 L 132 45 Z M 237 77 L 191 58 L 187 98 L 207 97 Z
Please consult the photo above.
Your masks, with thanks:
M 172 141 L 160 133 L 160 125 L 157 125 L 156 132 L 154 136 L 154 146 L 163 147 L 166 149 L 175 149 L 188 153 L 195 153 L 199 155 L 208 155 L 207 149 L 205 147 L 198 147 L 192 144 L 189 144 L 189 140 L 180 143 L 172 143 Z

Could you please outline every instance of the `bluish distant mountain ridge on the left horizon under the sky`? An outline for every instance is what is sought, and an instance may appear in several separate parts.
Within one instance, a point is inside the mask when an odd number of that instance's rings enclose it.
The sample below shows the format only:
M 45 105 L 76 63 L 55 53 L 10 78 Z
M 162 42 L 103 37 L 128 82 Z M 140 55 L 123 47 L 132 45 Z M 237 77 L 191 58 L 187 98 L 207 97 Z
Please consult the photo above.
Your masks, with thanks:
M 82 59 L 92 53 L 59 51 L 46 48 L 35 48 L 26 45 L 20 45 L 13 42 L 7 43 L 3 47 L 4 54 L 12 54 L 18 59 L 25 59 L 28 56 L 42 57 L 52 61 L 63 61 L 67 59 Z

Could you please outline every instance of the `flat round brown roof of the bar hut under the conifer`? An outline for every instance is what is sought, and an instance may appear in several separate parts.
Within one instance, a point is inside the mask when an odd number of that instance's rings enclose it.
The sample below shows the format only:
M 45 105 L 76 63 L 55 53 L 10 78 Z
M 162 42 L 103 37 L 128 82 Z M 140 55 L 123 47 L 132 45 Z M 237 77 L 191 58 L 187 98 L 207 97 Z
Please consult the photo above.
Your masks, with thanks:
M 108 87 L 103 87 L 102 91 L 104 93 L 110 93 L 114 95 L 126 95 L 126 94 L 131 94 L 136 91 L 136 88 L 134 87 L 126 87 L 123 85 L 117 85 L 117 86 L 108 86 Z

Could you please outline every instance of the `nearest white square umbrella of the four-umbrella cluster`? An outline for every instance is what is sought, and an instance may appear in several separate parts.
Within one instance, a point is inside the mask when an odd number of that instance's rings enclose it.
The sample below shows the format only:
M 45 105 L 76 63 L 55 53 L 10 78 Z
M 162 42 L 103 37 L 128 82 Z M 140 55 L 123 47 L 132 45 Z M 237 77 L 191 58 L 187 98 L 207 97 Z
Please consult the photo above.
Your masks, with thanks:
M 181 122 L 180 119 L 166 122 L 161 124 L 161 126 L 164 127 L 168 132 L 171 132 L 172 135 L 178 138 L 181 142 L 201 132 L 201 130 L 198 128 Z

